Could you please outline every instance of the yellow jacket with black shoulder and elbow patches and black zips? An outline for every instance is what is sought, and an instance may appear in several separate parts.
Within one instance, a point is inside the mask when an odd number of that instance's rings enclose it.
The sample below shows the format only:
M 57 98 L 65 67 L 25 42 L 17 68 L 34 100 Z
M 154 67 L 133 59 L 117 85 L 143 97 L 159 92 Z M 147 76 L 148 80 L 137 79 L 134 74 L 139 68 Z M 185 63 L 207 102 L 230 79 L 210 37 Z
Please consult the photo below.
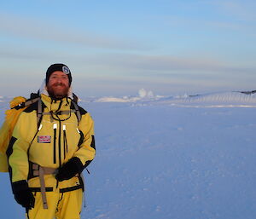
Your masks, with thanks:
M 38 105 L 33 103 L 21 112 L 7 150 L 11 182 L 26 180 L 29 187 L 35 190 L 40 183 L 38 177 L 32 176 L 32 163 L 58 169 L 70 158 L 77 157 L 85 167 L 96 155 L 94 124 L 89 112 L 79 107 L 81 120 L 78 122 L 70 99 L 53 101 L 48 95 L 42 94 L 41 100 L 44 115 L 39 129 Z M 60 183 L 53 175 L 44 176 L 44 179 L 49 190 L 65 190 L 68 187 L 72 190 L 72 187 L 75 189 L 81 185 L 76 176 Z

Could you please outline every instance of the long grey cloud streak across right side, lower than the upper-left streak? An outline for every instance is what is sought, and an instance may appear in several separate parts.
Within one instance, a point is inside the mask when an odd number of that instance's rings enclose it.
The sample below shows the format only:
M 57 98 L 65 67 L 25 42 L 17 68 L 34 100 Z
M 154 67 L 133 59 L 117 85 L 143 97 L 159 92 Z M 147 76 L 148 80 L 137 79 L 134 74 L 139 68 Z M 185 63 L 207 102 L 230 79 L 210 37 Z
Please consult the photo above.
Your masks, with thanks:
M 176 57 L 171 55 L 108 55 L 102 58 L 106 65 L 134 70 L 156 72 L 255 72 L 254 68 L 206 57 Z

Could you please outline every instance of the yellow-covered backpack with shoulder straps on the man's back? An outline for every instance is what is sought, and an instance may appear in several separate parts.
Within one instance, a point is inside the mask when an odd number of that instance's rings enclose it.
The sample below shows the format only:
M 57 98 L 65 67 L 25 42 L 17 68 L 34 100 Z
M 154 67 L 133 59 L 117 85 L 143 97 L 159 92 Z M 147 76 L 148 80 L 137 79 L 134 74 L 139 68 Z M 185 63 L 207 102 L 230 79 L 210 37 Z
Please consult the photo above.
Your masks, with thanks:
M 81 113 L 79 111 L 79 106 L 77 104 L 78 97 L 73 94 L 73 107 L 75 108 L 75 114 L 78 121 L 81 120 Z M 38 127 L 40 126 L 41 119 L 44 115 L 43 112 L 43 102 L 38 94 L 31 94 L 30 99 L 26 99 L 22 96 L 15 97 L 9 102 L 10 109 L 5 111 L 5 119 L 3 125 L 0 129 L 0 172 L 9 172 L 8 158 L 6 155 L 6 150 L 9 147 L 9 141 L 12 137 L 13 131 L 15 129 L 15 124 L 18 121 L 20 113 L 23 112 L 27 107 L 32 105 L 32 103 L 38 102 L 37 120 Z

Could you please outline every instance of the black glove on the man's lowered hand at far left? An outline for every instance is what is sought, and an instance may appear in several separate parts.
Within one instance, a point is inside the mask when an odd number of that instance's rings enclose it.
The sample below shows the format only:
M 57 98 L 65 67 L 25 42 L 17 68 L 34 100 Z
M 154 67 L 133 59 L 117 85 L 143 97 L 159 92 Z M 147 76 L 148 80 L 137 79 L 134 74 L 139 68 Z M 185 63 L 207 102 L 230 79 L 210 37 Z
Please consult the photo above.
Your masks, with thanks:
M 27 182 L 19 181 L 12 183 L 15 200 L 26 209 L 32 209 L 35 205 L 35 198 L 30 191 Z

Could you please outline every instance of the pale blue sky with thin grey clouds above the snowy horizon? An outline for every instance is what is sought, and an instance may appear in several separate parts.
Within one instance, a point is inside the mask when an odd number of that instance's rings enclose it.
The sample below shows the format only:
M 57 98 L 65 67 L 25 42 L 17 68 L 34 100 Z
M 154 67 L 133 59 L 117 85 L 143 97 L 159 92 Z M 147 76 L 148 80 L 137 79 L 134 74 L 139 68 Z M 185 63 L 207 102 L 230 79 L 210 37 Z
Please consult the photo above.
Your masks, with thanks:
M 80 96 L 256 89 L 254 1 L 1 1 L 0 95 L 65 63 Z

